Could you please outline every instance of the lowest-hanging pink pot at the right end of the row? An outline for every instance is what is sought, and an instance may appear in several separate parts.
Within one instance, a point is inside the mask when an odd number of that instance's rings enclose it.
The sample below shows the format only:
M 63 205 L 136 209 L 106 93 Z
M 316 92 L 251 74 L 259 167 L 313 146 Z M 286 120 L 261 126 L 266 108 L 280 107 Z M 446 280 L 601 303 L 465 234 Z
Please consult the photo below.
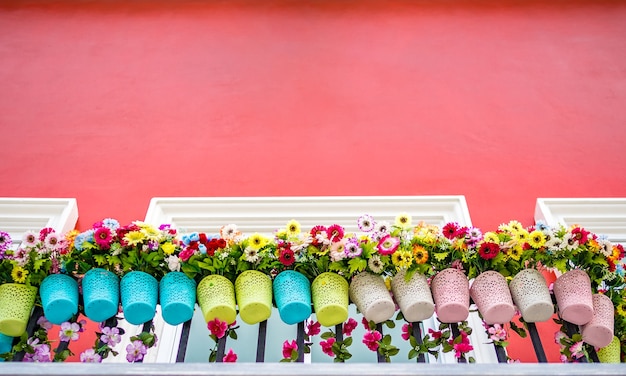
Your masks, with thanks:
M 613 340 L 615 308 L 604 294 L 593 295 L 593 318 L 581 328 L 583 341 L 595 347 L 608 346 Z

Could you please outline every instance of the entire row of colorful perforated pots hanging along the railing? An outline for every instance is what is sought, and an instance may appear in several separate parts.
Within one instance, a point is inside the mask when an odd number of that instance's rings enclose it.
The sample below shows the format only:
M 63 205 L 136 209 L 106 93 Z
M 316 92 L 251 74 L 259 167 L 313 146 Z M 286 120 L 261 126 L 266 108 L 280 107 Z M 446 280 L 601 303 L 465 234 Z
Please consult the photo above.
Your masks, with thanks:
M 164 320 L 172 325 L 193 316 L 196 301 L 208 322 L 219 318 L 232 323 L 237 317 L 247 324 L 267 320 L 275 302 L 282 321 L 301 322 L 315 311 L 317 320 L 330 327 L 348 318 L 348 304 L 355 303 L 366 319 L 376 323 L 390 319 L 396 303 L 406 320 L 423 321 L 436 312 L 444 323 L 464 321 L 469 315 L 470 297 L 487 324 L 511 321 L 519 309 L 527 322 L 549 320 L 554 314 L 550 291 L 541 273 L 527 269 L 510 283 L 498 272 L 488 271 L 474 279 L 471 288 L 458 269 L 439 272 L 428 282 L 421 274 L 406 278 L 401 271 L 391 280 L 391 294 L 383 277 L 363 272 L 350 284 L 340 275 L 326 272 L 313 283 L 302 274 L 288 270 L 274 280 L 264 273 L 248 270 L 233 284 L 220 275 L 196 283 L 184 273 L 168 273 L 161 281 L 144 272 L 131 272 L 121 280 L 104 269 L 93 269 L 82 279 L 85 315 L 96 322 L 118 313 L 121 300 L 125 319 L 139 325 L 151 320 L 157 303 Z M 41 301 L 46 318 L 60 324 L 78 311 L 79 291 L 75 279 L 55 274 L 41 285 Z M 16 337 L 28 322 L 37 290 L 25 285 L 0 286 L 0 333 Z M 554 284 L 560 316 L 581 325 L 583 339 L 596 347 L 613 339 L 613 304 L 601 294 L 592 294 L 589 277 L 580 270 L 560 276 Z M 395 301 L 394 301 L 395 299 Z M 19 304 L 26 306 L 19 311 Z M 313 309 L 312 307 L 313 306 Z M 238 309 L 238 311 L 237 311 Z M 19 311 L 19 312 L 18 312 Z

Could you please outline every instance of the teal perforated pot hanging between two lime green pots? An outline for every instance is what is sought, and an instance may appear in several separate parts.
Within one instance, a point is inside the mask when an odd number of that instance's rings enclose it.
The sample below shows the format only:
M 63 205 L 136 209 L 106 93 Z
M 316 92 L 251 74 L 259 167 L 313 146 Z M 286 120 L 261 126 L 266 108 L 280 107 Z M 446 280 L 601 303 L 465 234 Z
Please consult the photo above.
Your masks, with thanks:
M 281 320 L 292 325 L 311 316 L 311 283 L 293 270 L 280 272 L 272 285 Z

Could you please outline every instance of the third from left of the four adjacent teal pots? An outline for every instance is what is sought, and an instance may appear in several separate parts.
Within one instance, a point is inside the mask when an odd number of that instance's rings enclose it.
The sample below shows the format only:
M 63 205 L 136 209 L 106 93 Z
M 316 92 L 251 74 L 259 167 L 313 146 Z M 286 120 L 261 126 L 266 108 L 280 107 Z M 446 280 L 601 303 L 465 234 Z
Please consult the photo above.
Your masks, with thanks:
M 154 318 L 159 297 L 159 283 L 145 272 L 130 272 L 120 282 L 124 318 L 140 325 Z

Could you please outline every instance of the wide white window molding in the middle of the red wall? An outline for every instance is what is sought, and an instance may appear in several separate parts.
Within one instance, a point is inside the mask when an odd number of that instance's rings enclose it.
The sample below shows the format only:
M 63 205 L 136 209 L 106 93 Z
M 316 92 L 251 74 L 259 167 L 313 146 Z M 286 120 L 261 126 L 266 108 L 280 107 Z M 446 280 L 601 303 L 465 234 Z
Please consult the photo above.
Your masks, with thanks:
M 146 222 L 169 223 L 183 232 L 217 232 L 234 223 L 244 233 L 267 234 L 295 219 L 303 228 L 337 223 L 355 232 L 363 214 L 393 223 L 400 213 L 414 222 L 471 225 L 464 196 L 157 197 Z

